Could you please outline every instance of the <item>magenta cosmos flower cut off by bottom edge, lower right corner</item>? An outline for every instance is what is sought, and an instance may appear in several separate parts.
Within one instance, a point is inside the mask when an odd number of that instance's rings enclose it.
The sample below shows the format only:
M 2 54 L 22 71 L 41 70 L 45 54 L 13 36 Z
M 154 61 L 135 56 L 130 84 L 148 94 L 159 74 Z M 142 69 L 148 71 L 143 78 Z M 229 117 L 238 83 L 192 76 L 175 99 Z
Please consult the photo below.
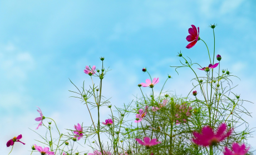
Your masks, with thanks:
M 225 147 L 224 155 L 245 155 L 249 150 L 249 148 L 245 149 L 245 144 L 239 146 L 238 143 L 233 143 L 232 149 L 233 152 L 228 147 Z

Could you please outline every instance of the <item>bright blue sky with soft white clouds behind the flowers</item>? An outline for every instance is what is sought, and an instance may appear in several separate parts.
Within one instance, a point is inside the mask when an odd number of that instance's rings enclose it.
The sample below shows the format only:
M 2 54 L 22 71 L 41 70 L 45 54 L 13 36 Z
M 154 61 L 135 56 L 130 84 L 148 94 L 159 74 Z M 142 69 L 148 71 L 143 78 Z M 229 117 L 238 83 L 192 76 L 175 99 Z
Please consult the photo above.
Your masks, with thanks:
M 255 34 L 256 3 L 254 1 L 0 1 L 0 149 L 10 151 L 8 139 L 23 135 L 25 146 L 15 150 L 27 153 L 38 137 L 28 129 L 36 128 L 36 106 L 43 114 L 55 118 L 60 128 L 75 123 L 89 125 L 86 107 L 69 98 L 68 90 L 90 84 L 83 73 L 86 65 L 112 69 L 105 77 L 104 95 L 112 97 L 112 105 L 129 103 L 140 95 L 137 84 L 147 79 L 141 73 L 145 66 L 166 89 L 186 96 L 193 88 L 193 74 L 180 69 L 179 75 L 170 65 L 179 65 L 181 50 L 193 62 L 209 64 L 203 42 L 186 49 L 186 36 L 191 24 L 200 27 L 200 38 L 213 51 L 215 28 L 216 54 L 221 68 L 229 69 L 241 80 L 234 90 L 241 98 L 256 102 L 255 96 Z M 145 92 L 147 91 L 144 89 Z M 256 108 L 245 103 L 250 112 Z M 102 109 L 102 120 L 108 112 Z M 256 113 L 252 113 L 256 116 Z M 246 117 L 251 127 L 254 118 Z M 41 130 L 40 132 L 44 132 Z M 32 136 L 31 136 L 32 135 Z M 250 144 L 253 143 L 253 138 Z

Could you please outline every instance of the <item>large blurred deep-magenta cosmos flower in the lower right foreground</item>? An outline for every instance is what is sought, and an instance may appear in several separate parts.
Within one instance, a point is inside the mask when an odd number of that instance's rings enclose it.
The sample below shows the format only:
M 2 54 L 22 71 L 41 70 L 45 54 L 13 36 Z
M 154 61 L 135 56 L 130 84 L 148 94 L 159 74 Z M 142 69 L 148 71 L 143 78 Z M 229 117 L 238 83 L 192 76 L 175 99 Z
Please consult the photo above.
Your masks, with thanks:
M 200 146 L 213 146 L 231 135 L 232 130 L 225 132 L 226 130 L 227 125 L 225 123 L 219 126 L 216 133 L 211 127 L 206 126 L 202 128 L 201 133 L 193 132 L 194 138 L 192 140 Z

